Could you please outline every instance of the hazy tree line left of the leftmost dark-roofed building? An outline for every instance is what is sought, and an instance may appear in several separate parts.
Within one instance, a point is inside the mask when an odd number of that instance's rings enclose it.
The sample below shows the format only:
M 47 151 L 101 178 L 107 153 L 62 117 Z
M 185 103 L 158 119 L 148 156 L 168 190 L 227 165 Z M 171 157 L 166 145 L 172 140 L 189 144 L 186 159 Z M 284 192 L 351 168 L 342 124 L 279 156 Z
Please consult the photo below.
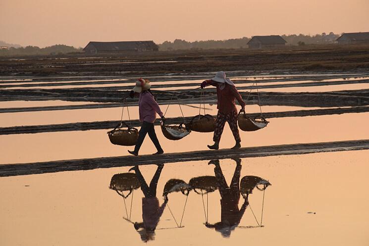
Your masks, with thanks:
M 81 51 L 81 48 L 77 49 L 73 46 L 66 45 L 53 45 L 45 48 L 39 48 L 37 46 L 26 46 L 20 48 L 10 47 L 8 49 L 0 49 L 0 55 L 59 55 Z

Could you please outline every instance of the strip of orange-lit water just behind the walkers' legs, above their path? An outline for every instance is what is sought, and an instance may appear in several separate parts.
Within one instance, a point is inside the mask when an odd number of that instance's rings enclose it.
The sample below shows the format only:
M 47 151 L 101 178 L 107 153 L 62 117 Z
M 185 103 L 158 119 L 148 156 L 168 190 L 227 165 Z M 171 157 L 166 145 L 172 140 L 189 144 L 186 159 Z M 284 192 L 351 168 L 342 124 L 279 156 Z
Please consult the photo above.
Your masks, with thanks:
M 363 122 L 369 121 L 368 117 L 369 113 L 352 113 L 273 118 L 262 130 L 240 131 L 241 144 L 242 147 L 255 147 L 369 139 L 369 131 L 363 128 Z M 106 134 L 107 131 L 2 135 L 0 146 L 6 146 L 6 148 L 0 148 L 0 164 L 128 155 L 127 150 L 133 148 L 112 145 Z M 207 145 L 212 143 L 213 135 L 191 132 L 179 141 L 171 141 L 163 136 L 159 126 L 156 126 L 156 133 L 166 153 L 207 150 Z M 234 139 L 226 125 L 220 148 L 233 146 Z M 146 139 L 140 154 L 154 152 L 156 152 L 154 145 Z

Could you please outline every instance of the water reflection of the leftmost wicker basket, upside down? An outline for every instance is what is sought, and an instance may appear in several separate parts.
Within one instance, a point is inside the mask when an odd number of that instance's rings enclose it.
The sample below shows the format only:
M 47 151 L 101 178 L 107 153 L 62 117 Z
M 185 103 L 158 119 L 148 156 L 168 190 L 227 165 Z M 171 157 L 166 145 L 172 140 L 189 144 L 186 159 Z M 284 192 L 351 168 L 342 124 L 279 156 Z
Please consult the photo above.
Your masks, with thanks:
M 126 198 L 138 188 L 140 188 L 140 182 L 134 173 L 118 173 L 111 177 L 109 189 L 116 191 L 120 196 Z M 129 191 L 128 195 L 123 195 L 124 191 Z

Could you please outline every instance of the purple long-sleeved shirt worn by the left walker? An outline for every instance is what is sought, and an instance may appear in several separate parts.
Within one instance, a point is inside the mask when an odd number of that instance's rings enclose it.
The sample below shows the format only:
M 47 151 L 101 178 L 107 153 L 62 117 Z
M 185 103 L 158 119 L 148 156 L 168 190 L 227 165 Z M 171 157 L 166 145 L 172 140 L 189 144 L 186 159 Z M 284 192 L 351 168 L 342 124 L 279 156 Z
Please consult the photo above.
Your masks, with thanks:
M 157 118 L 157 113 L 160 115 L 160 117 L 163 116 L 158 102 L 149 92 L 140 93 L 138 99 L 138 110 L 140 113 L 141 122 L 146 121 L 149 123 L 154 123 Z

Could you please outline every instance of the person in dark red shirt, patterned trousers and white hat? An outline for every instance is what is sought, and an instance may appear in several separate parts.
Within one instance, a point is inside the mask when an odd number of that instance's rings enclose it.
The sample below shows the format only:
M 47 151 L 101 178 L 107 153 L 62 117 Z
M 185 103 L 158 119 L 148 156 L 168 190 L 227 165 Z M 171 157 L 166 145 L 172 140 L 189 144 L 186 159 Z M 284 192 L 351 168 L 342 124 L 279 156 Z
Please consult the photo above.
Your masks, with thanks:
M 241 148 L 241 137 L 237 125 L 237 108 L 234 100 L 237 99 L 238 103 L 241 105 L 241 112 L 245 111 L 246 103 L 242 100 L 241 95 L 238 93 L 233 82 L 226 78 L 225 72 L 223 71 L 217 72 L 214 78 L 205 80 L 203 83 L 201 83 L 201 88 L 209 85 L 216 87 L 216 94 L 218 98 L 218 114 L 216 115 L 215 121 L 215 130 L 213 136 L 214 144 L 208 145 L 208 148 L 219 148 L 219 141 L 223 133 L 225 122 L 228 122 L 233 133 L 233 137 L 236 141 L 236 144 L 232 149 Z

